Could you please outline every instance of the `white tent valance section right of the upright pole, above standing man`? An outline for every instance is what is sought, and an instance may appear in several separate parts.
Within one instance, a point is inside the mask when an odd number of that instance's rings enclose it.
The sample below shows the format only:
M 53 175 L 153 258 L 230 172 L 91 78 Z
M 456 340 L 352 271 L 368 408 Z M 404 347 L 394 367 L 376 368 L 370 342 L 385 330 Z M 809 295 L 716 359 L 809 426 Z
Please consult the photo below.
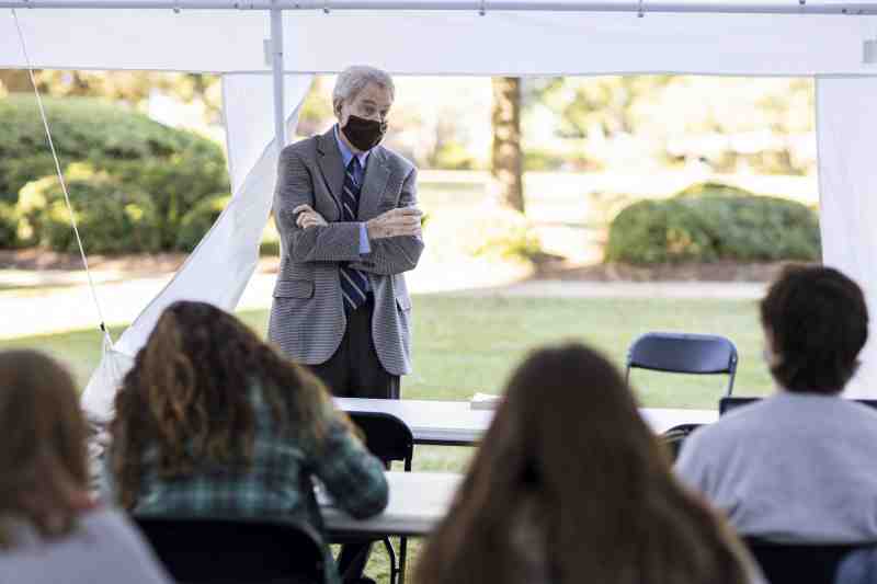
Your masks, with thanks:
M 488 12 L 284 14 L 287 70 L 368 62 L 395 73 L 742 76 L 877 73 L 877 19 Z

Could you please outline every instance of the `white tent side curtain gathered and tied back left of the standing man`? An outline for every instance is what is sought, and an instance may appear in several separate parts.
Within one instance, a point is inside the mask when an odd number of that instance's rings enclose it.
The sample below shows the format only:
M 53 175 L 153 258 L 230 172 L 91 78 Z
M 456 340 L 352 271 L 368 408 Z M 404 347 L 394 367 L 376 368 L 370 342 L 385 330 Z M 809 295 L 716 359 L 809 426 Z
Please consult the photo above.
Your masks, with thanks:
M 312 76 L 286 76 L 287 131 Z M 235 195 L 210 231 L 168 286 L 144 309 L 112 350 L 104 347 L 98 369 L 82 394 L 91 417 L 106 420 L 122 377 L 146 344 L 161 311 L 176 300 L 201 300 L 234 310 L 259 261 L 259 242 L 271 211 L 276 180 L 272 78 L 232 75 L 223 78 L 228 160 Z M 88 238 L 88 233 L 84 234 Z

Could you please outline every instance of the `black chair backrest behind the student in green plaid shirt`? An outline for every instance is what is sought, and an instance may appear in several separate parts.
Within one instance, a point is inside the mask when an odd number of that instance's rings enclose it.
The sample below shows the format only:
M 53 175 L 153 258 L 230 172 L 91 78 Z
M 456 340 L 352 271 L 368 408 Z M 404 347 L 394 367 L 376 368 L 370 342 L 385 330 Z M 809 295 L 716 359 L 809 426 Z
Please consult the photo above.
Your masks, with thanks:
M 307 524 L 243 517 L 134 517 L 181 584 L 322 584 L 324 543 Z

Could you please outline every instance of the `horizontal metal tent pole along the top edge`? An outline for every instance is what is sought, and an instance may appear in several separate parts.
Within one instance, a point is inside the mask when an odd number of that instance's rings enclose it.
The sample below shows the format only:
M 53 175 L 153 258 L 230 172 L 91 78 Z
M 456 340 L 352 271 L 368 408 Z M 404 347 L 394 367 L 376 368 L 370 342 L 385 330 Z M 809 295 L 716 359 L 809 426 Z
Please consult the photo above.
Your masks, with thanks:
M 845 14 L 875 15 L 877 2 L 660 2 L 645 5 L 638 0 L 0 0 L 0 9 L 157 9 L 157 10 L 414 10 L 414 11 L 490 11 L 509 12 L 628 12 L 691 14 Z

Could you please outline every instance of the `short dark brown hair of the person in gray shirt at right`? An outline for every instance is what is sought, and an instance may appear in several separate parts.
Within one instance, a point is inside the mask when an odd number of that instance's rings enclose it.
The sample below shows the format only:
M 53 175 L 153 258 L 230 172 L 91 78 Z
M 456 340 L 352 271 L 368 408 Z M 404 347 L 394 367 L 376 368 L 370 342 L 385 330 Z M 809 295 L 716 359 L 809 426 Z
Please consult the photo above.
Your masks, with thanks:
M 761 301 L 761 322 L 786 390 L 838 393 L 858 367 L 868 337 L 862 288 L 832 267 L 787 266 Z

